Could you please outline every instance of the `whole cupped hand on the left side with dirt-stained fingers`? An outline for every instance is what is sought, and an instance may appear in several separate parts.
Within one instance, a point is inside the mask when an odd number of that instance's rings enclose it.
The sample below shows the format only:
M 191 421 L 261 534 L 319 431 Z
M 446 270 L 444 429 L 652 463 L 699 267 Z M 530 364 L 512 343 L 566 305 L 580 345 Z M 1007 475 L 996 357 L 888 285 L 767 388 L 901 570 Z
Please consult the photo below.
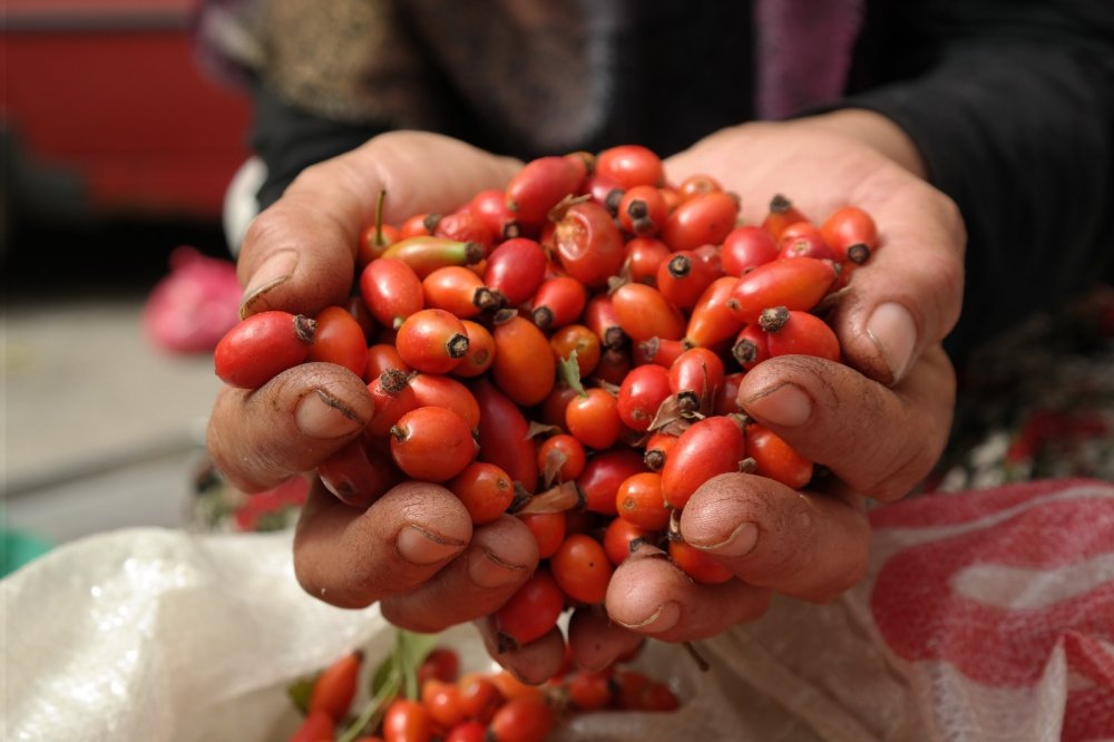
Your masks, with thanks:
M 313 315 L 343 303 L 380 191 L 388 194 L 384 221 L 398 223 L 448 213 L 482 188 L 502 187 L 518 167 L 446 137 L 393 133 L 306 169 L 244 240 L 243 315 Z M 312 472 L 361 435 L 373 410 L 358 375 L 305 363 L 255 391 L 223 389 L 207 446 L 234 486 L 260 491 Z M 456 497 L 422 482 L 401 485 L 364 510 L 314 477 L 294 540 L 295 573 L 310 594 L 343 607 L 379 602 L 388 619 L 422 632 L 487 615 L 536 563 L 537 544 L 517 518 L 473 529 Z

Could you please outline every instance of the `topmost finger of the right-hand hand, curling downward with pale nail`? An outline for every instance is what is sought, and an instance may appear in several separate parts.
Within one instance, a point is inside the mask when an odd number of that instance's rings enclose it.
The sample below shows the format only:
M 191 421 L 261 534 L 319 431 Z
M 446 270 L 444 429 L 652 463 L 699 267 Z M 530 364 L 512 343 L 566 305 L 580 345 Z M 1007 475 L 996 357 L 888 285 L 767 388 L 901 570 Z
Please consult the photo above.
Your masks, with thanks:
M 886 172 L 856 203 L 878 225 L 879 248 L 851 276 L 831 322 L 848 362 L 900 382 L 959 319 L 966 233 L 954 202 Z

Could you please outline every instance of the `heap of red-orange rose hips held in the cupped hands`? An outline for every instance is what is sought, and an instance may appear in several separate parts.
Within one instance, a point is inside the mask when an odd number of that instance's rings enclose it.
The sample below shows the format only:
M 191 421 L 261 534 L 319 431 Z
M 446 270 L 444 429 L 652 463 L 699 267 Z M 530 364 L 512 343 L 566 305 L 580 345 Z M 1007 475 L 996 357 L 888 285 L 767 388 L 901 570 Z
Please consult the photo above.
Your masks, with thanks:
M 735 392 L 771 357 L 840 360 L 822 318 L 877 243 L 853 205 L 817 223 L 776 195 L 741 224 L 736 195 L 667 184 L 642 146 L 540 157 L 451 214 L 377 217 L 348 305 L 245 319 L 216 372 L 244 388 L 307 361 L 360 375 L 374 416 L 317 469 L 354 507 L 411 478 L 476 524 L 521 518 L 541 563 L 496 615 L 512 647 L 602 604 L 643 543 L 696 582 L 730 579 L 677 516 L 723 472 L 809 484 L 812 462 Z

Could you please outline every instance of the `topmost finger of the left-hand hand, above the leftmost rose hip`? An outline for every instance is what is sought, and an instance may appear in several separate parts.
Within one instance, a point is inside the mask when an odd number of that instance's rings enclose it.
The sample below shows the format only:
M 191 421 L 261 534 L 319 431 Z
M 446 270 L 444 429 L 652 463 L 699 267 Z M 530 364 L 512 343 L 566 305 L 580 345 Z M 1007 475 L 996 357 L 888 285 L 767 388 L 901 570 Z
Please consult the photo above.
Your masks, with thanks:
M 485 187 L 501 187 L 516 160 L 436 134 L 398 131 L 303 170 L 253 219 L 237 270 L 246 286 L 241 314 L 271 309 L 315 314 L 351 291 L 360 232 L 384 219 L 448 212 Z M 451 172 L 453 177 L 444 177 Z

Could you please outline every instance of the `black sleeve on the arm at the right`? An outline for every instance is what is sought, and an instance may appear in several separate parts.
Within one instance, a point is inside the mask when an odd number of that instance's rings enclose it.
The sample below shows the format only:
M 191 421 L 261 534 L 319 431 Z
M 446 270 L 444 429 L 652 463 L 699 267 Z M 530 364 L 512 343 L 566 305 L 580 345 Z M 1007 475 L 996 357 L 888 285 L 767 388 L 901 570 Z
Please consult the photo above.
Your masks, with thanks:
M 920 71 L 844 105 L 900 125 L 962 212 L 965 306 L 948 340 L 961 358 L 1110 276 L 1114 2 L 956 0 L 921 12 L 907 19 L 913 36 L 892 33 L 908 48 L 889 55 Z M 867 39 L 893 28 L 868 25 Z

